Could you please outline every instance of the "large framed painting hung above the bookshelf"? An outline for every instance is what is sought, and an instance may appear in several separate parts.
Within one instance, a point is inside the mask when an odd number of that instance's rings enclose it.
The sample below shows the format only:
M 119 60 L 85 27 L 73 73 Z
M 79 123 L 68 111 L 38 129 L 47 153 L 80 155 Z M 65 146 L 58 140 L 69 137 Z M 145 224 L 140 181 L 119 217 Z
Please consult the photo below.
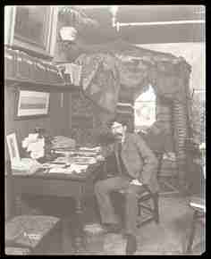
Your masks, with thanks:
M 54 55 L 56 6 L 5 6 L 4 17 L 4 44 L 41 56 Z

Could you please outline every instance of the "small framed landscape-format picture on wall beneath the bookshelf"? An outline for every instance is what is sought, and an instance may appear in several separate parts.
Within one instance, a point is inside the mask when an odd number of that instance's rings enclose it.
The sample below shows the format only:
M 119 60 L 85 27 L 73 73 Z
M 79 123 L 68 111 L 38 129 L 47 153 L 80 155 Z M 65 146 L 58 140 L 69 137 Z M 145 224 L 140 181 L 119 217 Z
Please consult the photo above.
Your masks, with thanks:
M 31 119 L 49 114 L 50 93 L 19 90 L 16 96 L 15 119 Z

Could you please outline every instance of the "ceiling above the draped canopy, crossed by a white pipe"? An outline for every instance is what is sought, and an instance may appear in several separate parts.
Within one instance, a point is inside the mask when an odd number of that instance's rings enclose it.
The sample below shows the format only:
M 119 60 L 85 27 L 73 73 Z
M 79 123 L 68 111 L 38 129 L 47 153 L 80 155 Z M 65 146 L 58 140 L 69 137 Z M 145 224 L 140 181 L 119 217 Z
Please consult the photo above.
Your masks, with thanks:
M 80 31 L 86 44 L 101 44 L 122 38 L 132 44 L 205 41 L 205 23 L 112 27 L 111 5 L 75 5 L 99 23 L 98 29 Z M 119 22 L 205 20 L 203 5 L 119 5 Z

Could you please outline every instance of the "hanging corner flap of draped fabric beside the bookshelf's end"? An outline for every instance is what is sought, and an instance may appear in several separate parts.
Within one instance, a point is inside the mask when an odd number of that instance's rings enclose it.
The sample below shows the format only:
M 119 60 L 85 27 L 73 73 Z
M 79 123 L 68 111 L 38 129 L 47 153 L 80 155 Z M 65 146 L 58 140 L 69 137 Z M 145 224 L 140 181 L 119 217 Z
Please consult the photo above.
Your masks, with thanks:
M 82 65 L 82 87 L 101 108 L 114 113 L 120 90 L 116 59 L 108 54 L 82 54 L 76 61 Z

